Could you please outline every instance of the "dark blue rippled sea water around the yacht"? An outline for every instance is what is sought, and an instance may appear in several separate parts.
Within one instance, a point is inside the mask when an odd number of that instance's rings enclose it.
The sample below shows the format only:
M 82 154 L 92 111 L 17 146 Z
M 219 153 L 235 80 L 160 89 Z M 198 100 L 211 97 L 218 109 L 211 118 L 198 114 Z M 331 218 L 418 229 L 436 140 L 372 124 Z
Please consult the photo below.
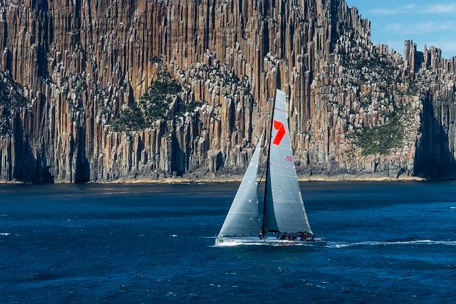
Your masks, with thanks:
M 327 247 L 213 247 L 237 184 L 0 185 L 0 303 L 455 303 L 456 182 L 301 184 Z

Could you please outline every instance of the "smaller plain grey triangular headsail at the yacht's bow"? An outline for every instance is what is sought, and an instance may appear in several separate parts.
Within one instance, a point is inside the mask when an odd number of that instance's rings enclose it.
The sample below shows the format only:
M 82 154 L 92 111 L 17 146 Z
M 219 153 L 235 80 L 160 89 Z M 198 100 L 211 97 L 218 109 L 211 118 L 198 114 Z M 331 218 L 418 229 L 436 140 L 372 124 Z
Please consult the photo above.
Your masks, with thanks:
M 260 147 L 261 140 L 256 145 L 243 182 L 240 184 L 218 236 L 258 236 L 260 234 L 258 196 L 256 195 Z

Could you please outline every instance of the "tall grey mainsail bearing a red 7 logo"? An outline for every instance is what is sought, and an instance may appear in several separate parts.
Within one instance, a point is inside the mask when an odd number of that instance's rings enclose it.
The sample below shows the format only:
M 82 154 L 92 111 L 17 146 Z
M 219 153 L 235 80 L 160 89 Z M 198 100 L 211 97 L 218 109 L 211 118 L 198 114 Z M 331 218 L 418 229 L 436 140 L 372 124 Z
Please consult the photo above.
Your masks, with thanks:
M 309 232 L 289 139 L 285 93 L 276 91 L 265 191 L 265 231 Z

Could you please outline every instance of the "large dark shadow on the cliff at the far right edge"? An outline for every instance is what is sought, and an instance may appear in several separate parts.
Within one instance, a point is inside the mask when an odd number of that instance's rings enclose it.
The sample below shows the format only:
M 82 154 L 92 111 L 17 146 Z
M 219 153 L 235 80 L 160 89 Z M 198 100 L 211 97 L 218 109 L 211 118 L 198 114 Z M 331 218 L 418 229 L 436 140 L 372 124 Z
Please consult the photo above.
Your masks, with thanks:
M 449 119 L 449 104 L 436 106 L 447 111 Z M 432 97 L 428 96 L 421 117 L 421 139 L 415 151 L 415 175 L 428 180 L 453 179 L 456 178 L 456 158 L 450 149 L 449 130 L 442 126 L 434 108 Z

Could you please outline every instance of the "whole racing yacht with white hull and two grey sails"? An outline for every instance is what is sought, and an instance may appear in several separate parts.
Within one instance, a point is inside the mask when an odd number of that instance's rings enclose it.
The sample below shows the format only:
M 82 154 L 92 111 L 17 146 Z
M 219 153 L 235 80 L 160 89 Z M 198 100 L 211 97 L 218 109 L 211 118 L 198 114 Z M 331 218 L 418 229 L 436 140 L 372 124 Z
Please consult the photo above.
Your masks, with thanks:
M 285 93 L 276 91 L 274 113 L 267 146 L 265 195 L 260 217 L 258 202 L 258 160 L 261 138 L 243 181 L 216 237 L 216 245 L 326 245 L 316 238 L 299 190 L 289 138 Z

